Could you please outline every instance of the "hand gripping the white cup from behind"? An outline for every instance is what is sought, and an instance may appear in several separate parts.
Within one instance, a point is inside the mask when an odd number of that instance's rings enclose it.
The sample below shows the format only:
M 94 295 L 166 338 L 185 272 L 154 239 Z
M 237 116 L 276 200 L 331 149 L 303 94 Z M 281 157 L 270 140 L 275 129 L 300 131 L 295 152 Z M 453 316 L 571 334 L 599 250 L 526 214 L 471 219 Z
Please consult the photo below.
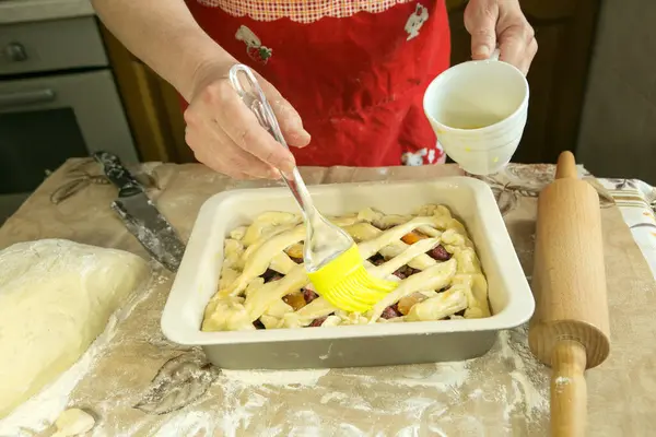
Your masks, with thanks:
M 488 59 L 499 47 L 500 60 L 528 72 L 538 43 L 519 0 L 470 0 L 465 27 L 471 35 L 472 59 Z

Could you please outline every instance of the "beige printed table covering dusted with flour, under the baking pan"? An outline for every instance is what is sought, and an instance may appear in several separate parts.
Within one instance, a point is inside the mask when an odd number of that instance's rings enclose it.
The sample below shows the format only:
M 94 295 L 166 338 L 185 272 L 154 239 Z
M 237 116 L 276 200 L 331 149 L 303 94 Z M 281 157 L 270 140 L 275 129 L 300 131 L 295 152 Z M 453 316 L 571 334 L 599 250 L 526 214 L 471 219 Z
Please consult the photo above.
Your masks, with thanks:
M 95 164 L 71 161 L 0 229 L 0 249 L 23 240 L 68 238 L 145 257 L 109 209 L 116 189 L 89 185 L 51 202 Z M 81 166 L 81 167 L 80 167 Z M 527 275 L 532 270 L 536 198 L 553 166 L 512 165 L 483 178 L 492 187 Z M 203 201 L 237 184 L 199 165 L 148 164 L 151 194 L 183 238 Z M 457 175 L 455 166 L 382 169 L 305 168 L 309 184 L 425 179 Z M 654 276 L 613 198 L 600 193 L 611 316 L 610 357 L 587 374 L 589 435 L 656 433 L 656 308 Z M 612 187 L 611 187 L 612 188 Z M 65 406 L 97 420 L 93 436 L 541 436 L 548 434 L 549 371 L 530 355 L 526 328 L 503 332 L 493 350 L 466 363 L 307 370 L 221 371 L 196 349 L 172 344 L 160 316 L 172 275 L 155 269 L 153 284 L 77 367 L 69 389 L 42 394 L 10 420 L 24 435 Z M 440 345 L 436 344 L 435 347 Z M 402 353 L 402 351 L 390 351 Z M 73 370 L 71 370 L 73 371 Z M 61 386 L 61 385 L 60 385 Z M 47 394 L 47 395 L 46 395 Z M 44 402 L 50 409 L 37 409 Z M 35 402 L 33 399 L 32 402 Z M 36 417 L 39 415 L 39 417 Z M 0 423 L 0 435 L 9 429 Z M 13 425 L 12 425 L 13 426 Z M 28 429 L 26 429 L 28 428 Z M 19 434 L 19 432 L 16 432 Z M 7 434 L 11 435 L 11 434 Z M 47 435 L 45 433 L 44 435 Z

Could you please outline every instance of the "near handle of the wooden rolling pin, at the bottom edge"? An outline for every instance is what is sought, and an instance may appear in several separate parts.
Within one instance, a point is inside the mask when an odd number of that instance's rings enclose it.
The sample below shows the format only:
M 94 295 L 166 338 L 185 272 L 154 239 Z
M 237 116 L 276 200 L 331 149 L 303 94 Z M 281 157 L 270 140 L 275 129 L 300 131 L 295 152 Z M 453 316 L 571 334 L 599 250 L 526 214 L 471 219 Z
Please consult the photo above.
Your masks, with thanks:
M 551 435 L 584 437 L 587 421 L 586 350 L 575 340 L 561 340 L 551 367 Z

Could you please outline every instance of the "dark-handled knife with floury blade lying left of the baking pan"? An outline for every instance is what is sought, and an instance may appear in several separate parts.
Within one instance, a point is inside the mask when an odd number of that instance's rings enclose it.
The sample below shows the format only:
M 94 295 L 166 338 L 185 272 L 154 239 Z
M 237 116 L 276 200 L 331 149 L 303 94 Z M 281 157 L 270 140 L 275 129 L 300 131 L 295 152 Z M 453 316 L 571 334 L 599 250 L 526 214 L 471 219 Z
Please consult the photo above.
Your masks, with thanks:
M 93 157 L 103 166 L 107 178 L 118 188 L 118 199 L 112 209 L 126 228 L 157 262 L 172 272 L 177 269 L 185 253 L 185 245 L 152 200 L 143 186 L 124 167 L 118 156 L 96 152 Z

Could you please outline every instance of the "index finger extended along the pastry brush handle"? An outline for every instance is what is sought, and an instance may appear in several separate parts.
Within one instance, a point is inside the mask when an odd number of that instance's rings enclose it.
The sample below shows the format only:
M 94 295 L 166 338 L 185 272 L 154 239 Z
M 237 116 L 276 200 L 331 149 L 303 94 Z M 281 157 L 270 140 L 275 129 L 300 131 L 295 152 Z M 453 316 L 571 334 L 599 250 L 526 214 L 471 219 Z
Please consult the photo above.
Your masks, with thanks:
M 226 81 L 210 85 L 204 101 L 216 123 L 241 149 L 283 172 L 294 168 L 292 153 L 259 125 Z

